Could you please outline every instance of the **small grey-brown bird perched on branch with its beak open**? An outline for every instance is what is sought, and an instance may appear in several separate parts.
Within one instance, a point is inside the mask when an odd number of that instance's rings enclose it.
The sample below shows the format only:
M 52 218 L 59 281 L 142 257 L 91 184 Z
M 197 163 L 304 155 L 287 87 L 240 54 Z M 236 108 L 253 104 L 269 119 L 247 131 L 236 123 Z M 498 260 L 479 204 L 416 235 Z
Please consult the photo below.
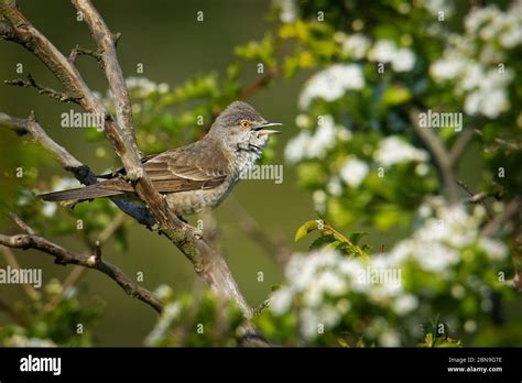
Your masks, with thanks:
M 267 129 L 281 125 L 268 122 L 251 106 L 232 102 L 199 141 L 142 158 L 143 167 L 156 190 L 166 195 L 168 207 L 178 217 L 207 211 L 230 193 L 243 172 L 252 167 L 267 146 Z M 93 198 L 135 197 L 124 179 L 124 169 L 99 176 L 97 184 L 70 190 L 43 194 L 46 201 L 83 201 Z

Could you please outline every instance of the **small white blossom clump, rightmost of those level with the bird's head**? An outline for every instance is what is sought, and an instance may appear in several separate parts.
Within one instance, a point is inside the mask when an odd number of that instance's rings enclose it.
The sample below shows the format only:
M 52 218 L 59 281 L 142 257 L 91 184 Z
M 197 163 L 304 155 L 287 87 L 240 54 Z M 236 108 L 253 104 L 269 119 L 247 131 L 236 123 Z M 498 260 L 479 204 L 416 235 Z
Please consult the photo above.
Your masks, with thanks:
M 396 135 L 383 139 L 373 152 L 373 160 L 383 167 L 390 167 L 402 162 L 426 162 L 428 154 L 422 149 L 410 145 Z

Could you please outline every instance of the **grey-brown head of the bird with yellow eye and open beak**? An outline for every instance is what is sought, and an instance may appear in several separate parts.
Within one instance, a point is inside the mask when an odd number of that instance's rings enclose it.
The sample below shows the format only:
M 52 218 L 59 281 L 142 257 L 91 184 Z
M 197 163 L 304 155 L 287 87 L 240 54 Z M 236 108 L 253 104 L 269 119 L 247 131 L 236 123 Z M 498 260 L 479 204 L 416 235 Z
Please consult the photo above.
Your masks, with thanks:
M 264 147 L 269 136 L 279 133 L 271 128 L 279 125 L 279 122 L 268 122 L 247 102 L 236 101 L 218 116 L 208 134 L 230 149 L 249 143 Z

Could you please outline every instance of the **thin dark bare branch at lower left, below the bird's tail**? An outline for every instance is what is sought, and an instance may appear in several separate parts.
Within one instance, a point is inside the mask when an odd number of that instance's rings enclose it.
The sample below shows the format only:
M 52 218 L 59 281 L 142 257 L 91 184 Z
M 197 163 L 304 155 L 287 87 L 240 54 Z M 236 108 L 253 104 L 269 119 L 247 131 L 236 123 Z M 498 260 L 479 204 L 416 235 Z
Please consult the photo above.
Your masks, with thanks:
M 26 226 L 25 223 L 23 225 Z M 129 278 L 123 273 L 120 267 L 102 261 L 96 254 L 90 256 L 78 254 L 70 250 L 62 248 L 61 245 L 53 243 L 43 237 L 29 233 L 18 236 L 0 234 L 0 244 L 13 249 L 40 250 L 44 253 L 53 255 L 55 258 L 54 262 L 56 264 L 76 264 L 84 267 L 97 270 L 109 276 L 116 283 L 118 283 L 118 285 L 120 285 L 120 287 L 123 288 L 123 291 L 128 295 L 146 303 L 157 313 L 162 311 L 163 305 L 154 297 L 154 295 L 150 291 L 144 287 L 141 287 L 140 285 L 137 285 L 134 282 L 131 281 L 131 278 Z

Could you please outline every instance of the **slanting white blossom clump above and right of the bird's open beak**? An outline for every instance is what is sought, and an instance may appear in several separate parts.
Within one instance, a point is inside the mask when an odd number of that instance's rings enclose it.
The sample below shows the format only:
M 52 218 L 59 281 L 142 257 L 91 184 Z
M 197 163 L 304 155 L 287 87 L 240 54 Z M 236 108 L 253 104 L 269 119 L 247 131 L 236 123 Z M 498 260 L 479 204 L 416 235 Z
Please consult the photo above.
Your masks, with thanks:
M 357 90 L 363 87 L 365 77 L 359 65 L 334 64 L 306 81 L 300 96 L 300 108 L 306 109 L 315 98 L 335 101 L 342 97 L 347 90 Z

